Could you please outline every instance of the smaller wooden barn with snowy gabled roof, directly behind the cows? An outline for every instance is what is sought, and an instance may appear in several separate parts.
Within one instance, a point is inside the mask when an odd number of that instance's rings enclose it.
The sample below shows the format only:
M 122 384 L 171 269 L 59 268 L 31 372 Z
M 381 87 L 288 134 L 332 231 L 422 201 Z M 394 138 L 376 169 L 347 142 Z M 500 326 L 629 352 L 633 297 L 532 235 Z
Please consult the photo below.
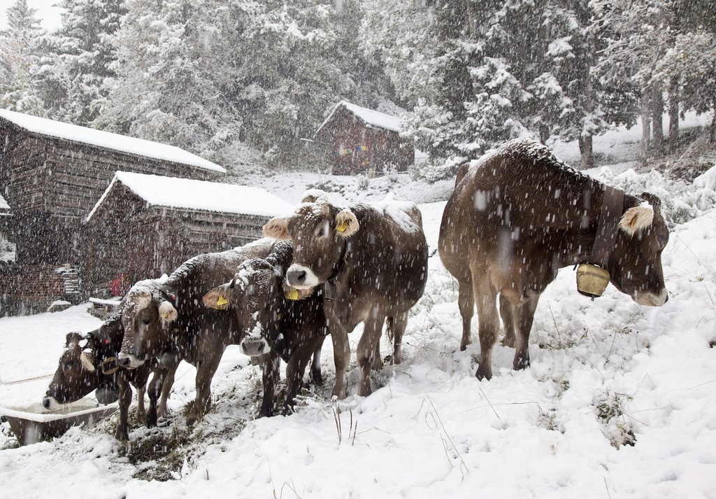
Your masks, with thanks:
M 122 274 L 160 277 L 195 255 L 254 241 L 293 209 L 256 187 L 118 171 L 84 224 L 89 289 L 96 295 Z

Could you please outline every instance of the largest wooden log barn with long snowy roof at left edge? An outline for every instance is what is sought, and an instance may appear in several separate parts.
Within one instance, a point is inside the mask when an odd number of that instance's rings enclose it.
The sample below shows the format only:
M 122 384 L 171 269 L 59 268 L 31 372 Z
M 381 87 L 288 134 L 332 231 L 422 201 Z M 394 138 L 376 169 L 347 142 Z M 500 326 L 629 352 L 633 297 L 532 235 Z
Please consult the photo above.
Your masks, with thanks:
M 1 269 L 0 313 L 79 299 L 82 221 L 116 171 L 203 180 L 226 174 L 177 147 L 8 110 L 0 110 L 0 138 L 0 194 L 11 207 L 1 230 L 16 244 L 14 265 Z M 55 279 L 58 268 L 69 277 Z

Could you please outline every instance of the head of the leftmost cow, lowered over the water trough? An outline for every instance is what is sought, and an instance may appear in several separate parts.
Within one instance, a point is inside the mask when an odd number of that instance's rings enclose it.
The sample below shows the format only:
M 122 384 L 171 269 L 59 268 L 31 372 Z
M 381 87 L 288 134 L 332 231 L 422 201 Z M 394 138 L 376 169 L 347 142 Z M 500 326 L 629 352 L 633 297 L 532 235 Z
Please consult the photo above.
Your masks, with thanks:
M 67 333 L 57 371 L 42 399 L 45 409 L 58 409 L 62 404 L 82 399 L 100 386 L 103 378 L 97 362 L 100 346 L 93 333 L 87 336 Z

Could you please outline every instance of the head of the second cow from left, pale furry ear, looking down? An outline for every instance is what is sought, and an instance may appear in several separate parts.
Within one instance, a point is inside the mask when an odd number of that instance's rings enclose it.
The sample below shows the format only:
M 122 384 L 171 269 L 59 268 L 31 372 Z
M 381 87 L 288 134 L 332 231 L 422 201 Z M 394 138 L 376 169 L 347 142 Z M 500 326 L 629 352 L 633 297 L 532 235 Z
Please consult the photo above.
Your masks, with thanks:
M 155 282 L 138 284 L 125 296 L 121 312 L 125 336 L 118 357 L 126 369 L 135 369 L 165 352 L 178 318 L 175 293 Z

